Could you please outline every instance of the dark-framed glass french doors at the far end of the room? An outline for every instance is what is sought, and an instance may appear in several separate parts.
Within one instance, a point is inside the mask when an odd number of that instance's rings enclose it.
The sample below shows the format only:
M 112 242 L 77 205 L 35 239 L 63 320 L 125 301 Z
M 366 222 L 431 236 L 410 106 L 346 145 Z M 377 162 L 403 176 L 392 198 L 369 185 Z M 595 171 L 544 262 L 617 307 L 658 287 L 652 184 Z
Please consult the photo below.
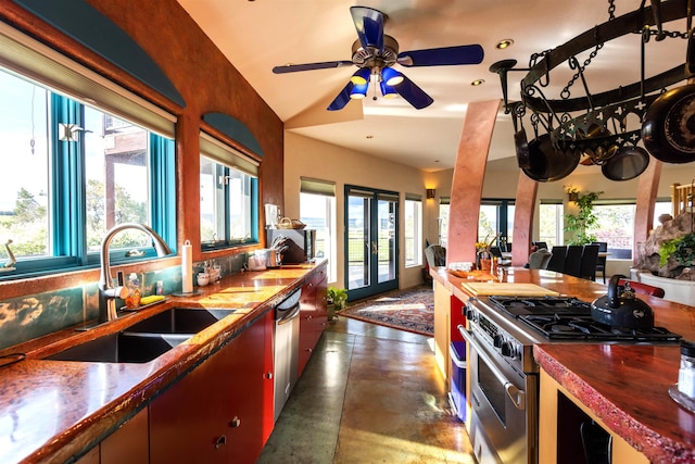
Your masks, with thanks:
M 345 186 L 348 299 L 399 288 L 399 193 Z

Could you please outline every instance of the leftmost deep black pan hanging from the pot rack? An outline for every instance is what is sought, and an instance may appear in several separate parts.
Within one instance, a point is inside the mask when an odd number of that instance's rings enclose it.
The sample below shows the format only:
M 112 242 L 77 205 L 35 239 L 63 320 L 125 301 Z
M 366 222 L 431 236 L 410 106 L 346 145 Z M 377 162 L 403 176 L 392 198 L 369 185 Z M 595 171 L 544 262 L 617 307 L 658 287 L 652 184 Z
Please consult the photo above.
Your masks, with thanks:
M 579 150 L 556 150 L 549 134 L 543 134 L 529 142 L 529 167 L 522 171 L 540 183 L 559 180 L 574 171 L 579 159 Z

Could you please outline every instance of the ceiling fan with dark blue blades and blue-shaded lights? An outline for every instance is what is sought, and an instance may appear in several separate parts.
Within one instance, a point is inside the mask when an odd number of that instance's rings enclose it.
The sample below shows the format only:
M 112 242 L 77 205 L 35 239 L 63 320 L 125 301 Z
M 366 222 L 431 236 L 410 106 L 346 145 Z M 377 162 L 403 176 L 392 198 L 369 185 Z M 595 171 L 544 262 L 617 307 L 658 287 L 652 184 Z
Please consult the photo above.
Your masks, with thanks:
M 367 7 L 351 7 L 350 12 L 357 29 L 358 39 L 352 46 L 351 61 L 327 61 L 320 63 L 287 64 L 275 66 L 275 74 L 300 71 L 327 70 L 355 65 L 358 70 L 348 85 L 328 105 L 328 111 L 342 110 L 350 99 L 367 96 L 370 80 L 381 89 L 384 98 L 400 95 L 418 110 L 429 106 L 434 100 L 403 73 L 394 70 L 402 66 L 450 66 L 457 64 L 479 64 L 483 50 L 479 45 L 442 47 L 399 53 L 399 42 L 383 34 L 384 15 Z M 376 97 L 375 97 L 376 98 Z

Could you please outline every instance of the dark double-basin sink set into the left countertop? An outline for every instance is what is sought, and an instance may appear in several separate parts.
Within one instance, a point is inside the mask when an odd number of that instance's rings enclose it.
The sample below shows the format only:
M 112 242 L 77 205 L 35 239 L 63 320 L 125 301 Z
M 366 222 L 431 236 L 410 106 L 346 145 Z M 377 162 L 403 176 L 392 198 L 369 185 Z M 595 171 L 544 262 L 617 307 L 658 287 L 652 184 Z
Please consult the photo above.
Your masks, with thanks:
M 46 360 L 148 363 L 235 310 L 172 308 L 125 329 L 63 350 Z

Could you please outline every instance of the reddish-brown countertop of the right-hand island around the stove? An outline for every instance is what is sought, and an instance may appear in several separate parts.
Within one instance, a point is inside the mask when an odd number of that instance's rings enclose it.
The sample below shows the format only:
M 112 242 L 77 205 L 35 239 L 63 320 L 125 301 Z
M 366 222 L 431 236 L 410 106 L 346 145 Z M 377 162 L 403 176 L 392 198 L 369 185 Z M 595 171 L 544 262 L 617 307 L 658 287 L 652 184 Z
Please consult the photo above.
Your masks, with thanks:
M 445 268 L 433 278 L 466 301 L 462 279 Z M 532 283 L 593 301 L 606 286 L 549 272 L 514 268 L 504 279 Z M 654 310 L 655 324 L 695 340 L 695 308 L 639 294 Z M 695 414 L 668 393 L 678 380 L 680 348 L 674 346 L 547 343 L 534 347 L 539 365 L 610 429 L 655 463 L 695 462 Z

